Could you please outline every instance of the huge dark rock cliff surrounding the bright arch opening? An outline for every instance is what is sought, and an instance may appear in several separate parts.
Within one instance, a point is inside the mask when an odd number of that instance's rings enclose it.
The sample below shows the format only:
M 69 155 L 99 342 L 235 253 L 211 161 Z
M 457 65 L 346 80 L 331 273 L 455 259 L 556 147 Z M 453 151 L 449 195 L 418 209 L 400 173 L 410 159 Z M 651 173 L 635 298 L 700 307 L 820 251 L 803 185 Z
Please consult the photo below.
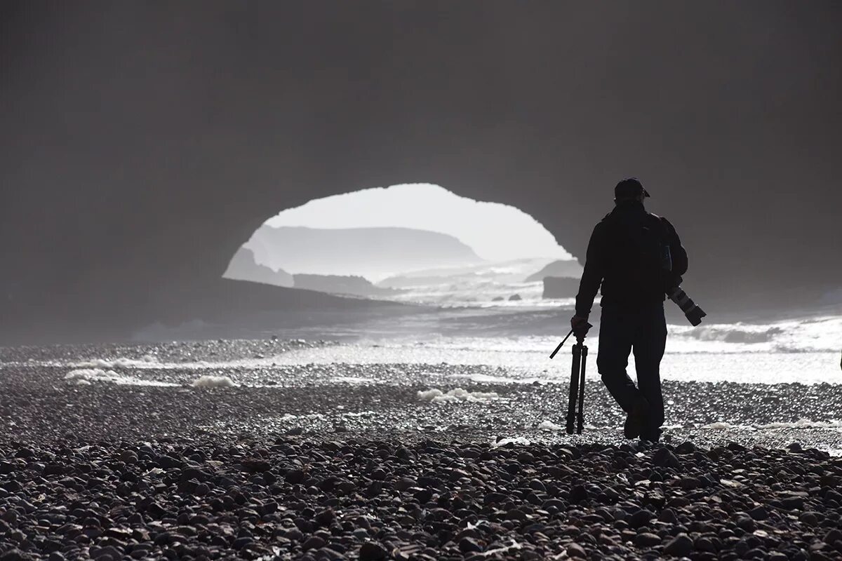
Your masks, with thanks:
M 148 303 L 280 209 L 406 182 L 515 204 L 583 255 L 636 175 L 702 290 L 842 278 L 842 3 L 0 10 L 0 288 L 23 315 Z

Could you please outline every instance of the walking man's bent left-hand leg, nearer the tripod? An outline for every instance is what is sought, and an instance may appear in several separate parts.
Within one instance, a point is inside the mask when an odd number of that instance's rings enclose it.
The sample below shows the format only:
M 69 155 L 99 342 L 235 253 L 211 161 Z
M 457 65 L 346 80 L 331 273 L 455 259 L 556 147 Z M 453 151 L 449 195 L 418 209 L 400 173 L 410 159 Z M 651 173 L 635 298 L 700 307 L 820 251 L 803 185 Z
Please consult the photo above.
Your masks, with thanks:
M 626 373 L 629 352 L 632 351 L 633 325 L 627 313 L 603 306 L 600 319 L 600 350 L 596 368 L 602 383 L 626 413 L 637 403 L 637 387 Z

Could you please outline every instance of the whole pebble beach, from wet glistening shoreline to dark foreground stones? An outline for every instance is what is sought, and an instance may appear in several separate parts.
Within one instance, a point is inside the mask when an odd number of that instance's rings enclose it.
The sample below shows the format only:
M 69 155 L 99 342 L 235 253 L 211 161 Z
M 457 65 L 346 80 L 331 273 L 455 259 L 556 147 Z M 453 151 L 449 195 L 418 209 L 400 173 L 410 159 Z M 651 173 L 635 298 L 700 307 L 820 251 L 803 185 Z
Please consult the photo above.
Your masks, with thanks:
M 842 386 L 294 364 L 326 341 L 0 349 L 0 560 L 835 559 Z

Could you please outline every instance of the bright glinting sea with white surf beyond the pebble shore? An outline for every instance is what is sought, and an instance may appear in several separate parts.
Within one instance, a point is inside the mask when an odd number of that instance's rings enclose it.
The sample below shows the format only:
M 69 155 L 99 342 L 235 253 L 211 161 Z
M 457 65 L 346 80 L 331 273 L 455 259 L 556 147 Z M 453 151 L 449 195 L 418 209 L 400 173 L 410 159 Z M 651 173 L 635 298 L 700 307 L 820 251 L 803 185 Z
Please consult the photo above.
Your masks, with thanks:
M 403 306 L 361 315 L 310 311 L 267 314 L 236 331 L 240 338 L 337 341 L 278 357 L 286 364 L 440 364 L 505 368 L 506 378 L 530 382 L 569 378 L 571 338 L 554 360 L 552 350 L 569 330 L 573 298 L 544 299 L 541 282 L 524 282 L 548 259 L 521 259 L 409 275 L 392 295 Z M 704 304 L 701 303 L 700 304 Z M 775 315 L 774 320 L 723 322 L 711 313 L 692 326 L 669 300 L 664 379 L 743 384 L 842 384 L 842 305 Z M 405 308 L 405 310 L 404 310 Z M 599 305 L 585 339 L 589 377 L 596 377 Z M 731 318 L 733 320 L 733 318 Z M 192 322 L 151 326 L 139 340 L 231 336 L 230 325 Z M 280 361 L 280 362 L 279 362 Z M 634 357 L 629 358 L 634 375 Z

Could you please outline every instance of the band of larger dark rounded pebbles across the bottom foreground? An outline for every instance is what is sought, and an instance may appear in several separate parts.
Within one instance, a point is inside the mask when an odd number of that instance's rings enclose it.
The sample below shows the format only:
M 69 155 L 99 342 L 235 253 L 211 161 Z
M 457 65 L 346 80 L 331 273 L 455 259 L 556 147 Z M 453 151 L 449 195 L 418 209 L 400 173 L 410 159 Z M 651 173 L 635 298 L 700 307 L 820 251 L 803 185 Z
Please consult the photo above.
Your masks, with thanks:
M 28 446 L 25 460 L 6 447 L 0 462 L 14 469 L 0 475 L 0 555 L 842 555 L 827 485 L 842 475 L 839 458 L 750 448 L 715 460 L 687 448 L 679 473 L 661 465 L 669 446 L 182 438 Z M 47 473 L 32 458 L 64 468 Z

